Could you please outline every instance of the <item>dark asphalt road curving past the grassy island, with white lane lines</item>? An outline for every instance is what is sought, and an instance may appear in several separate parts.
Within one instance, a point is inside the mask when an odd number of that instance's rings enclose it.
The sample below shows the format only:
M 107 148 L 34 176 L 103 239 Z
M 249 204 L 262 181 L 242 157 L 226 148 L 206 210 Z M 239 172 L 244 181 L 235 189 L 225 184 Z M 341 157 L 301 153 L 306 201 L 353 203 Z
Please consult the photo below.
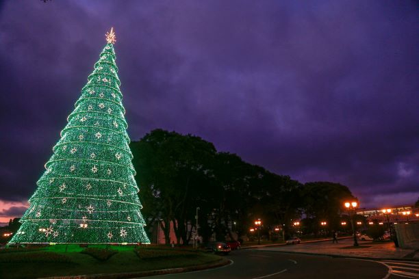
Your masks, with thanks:
M 238 250 L 226 258 L 233 263 L 225 267 L 194 271 L 183 274 L 168 274 L 147 278 L 164 279 L 275 279 L 275 278 L 338 278 L 381 279 L 388 278 L 388 267 L 376 261 L 350 258 L 310 256 L 259 250 Z M 394 275 L 391 275 L 393 278 Z M 394 277 L 396 278 L 396 277 Z M 400 278 L 400 277 L 398 277 Z

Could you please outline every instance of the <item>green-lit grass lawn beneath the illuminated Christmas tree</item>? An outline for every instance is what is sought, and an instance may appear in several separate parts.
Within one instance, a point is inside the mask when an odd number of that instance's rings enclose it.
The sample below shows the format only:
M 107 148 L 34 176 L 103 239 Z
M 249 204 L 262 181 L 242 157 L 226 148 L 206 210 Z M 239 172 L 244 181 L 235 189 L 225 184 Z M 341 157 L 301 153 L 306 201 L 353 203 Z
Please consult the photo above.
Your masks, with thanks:
M 89 245 L 89 248 L 105 248 Z M 39 278 L 83 274 L 107 274 L 148 271 L 174 267 L 188 267 L 215 263 L 220 256 L 185 249 L 140 247 L 138 254 L 129 246 L 110 246 L 117 253 L 106 261 L 99 261 L 78 245 L 55 245 L 18 251 L 0 250 L 0 278 Z

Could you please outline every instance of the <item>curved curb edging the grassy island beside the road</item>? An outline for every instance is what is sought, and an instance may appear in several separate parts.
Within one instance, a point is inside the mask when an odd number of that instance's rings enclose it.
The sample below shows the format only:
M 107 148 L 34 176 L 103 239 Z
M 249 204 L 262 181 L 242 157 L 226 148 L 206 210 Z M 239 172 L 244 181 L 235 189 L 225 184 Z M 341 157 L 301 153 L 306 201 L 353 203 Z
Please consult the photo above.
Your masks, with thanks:
M 215 267 L 223 267 L 225 265 L 231 264 L 230 260 L 222 259 L 216 263 L 209 263 L 205 265 L 194 265 L 190 267 L 177 267 L 177 268 L 168 268 L 168 269 L 159 269 L 159 270 L 149 270 L 149 271 L 137 271 L 137 272 L 127 272 L 127 273 L 118 273 L 118 274 L 86 274 L 86 275 L 75 275 L 75 276 L 53 276 L 53 277 L 44 277 L 41 279 L 118 279 L 118 278 L 134 278 L 134 277 L 145 277 L 145 276 L 155 276 L 155 275 L 164 275 L 164 274 L 177 274 L 183 272 L 197 271 L 211 269 Z

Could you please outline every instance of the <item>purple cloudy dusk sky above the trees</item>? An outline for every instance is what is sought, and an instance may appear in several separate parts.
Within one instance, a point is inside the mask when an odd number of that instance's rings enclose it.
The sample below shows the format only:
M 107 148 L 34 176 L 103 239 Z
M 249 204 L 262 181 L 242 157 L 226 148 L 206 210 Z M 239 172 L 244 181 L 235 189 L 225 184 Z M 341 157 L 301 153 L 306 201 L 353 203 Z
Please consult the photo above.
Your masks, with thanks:
M 192 133 L 361 207 L 411 204 L 418 18 L 414 1 L 1 1 L 0 218 L 36 189 L 111 26 L 132 140 Z

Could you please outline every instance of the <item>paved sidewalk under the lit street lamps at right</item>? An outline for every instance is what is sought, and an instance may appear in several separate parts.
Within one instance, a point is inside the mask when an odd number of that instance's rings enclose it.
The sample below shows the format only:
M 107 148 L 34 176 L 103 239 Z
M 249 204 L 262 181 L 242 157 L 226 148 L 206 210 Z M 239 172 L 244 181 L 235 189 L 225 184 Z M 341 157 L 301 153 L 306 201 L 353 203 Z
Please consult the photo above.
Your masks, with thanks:
M 339 243 L 332 241 L 301 243 L 296 245 L 281 245 L 277 247 L 258 247 L 257 249 L 273 252 L 291 252 L 301 254 L 318 254 L 327 256 L 346 256 L 351 258 L 372 259 L 411 259 L 419 261 L 419 253 L 415 250 L 394 247 L 393 242 L 372 243 L 359 241 L 360 248 L 353 248 L 352 239 L 340 239 Z

